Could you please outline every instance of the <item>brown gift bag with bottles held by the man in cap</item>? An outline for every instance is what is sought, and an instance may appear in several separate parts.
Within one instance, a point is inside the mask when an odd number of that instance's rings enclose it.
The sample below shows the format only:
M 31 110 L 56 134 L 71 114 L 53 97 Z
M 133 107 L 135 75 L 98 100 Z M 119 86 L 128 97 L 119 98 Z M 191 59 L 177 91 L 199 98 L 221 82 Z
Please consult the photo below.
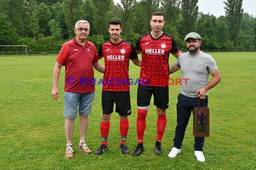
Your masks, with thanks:
M 207 107 L 194 107 L 193 135 L 195 137 L 208 137 L 210 135 L 210 114 Z

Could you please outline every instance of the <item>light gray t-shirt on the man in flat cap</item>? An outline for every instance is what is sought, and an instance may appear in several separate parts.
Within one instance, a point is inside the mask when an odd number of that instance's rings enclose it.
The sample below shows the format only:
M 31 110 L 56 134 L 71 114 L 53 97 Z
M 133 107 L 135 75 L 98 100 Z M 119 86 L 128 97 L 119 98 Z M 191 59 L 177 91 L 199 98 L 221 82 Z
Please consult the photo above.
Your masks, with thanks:
M 207 85 L 209 72 L 218 69 L 212 56 L 203 51 L 196 55 L 183 53 L 174 64 L 181 68 L 181 94 L 190 98 L 198 98 L 196 91 Z

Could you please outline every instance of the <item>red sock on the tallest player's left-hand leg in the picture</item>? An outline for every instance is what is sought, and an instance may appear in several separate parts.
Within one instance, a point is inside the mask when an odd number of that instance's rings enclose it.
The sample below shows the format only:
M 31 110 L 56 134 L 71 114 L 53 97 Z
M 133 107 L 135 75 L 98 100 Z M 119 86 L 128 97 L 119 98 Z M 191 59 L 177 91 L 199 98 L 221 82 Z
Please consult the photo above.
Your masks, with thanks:
M 137 137 L 138 137 L 138 143 L 143 143 L 143 137 L 144 132 L 146 129 L 146 115 L 147 110 L 138 109 L 138 115 L 137 115 Z

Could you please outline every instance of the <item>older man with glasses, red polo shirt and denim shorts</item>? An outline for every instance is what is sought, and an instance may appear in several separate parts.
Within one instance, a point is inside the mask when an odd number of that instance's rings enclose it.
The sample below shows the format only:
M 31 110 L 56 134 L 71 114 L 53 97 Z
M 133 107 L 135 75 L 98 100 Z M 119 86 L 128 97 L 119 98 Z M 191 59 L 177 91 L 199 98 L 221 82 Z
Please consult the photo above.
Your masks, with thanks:
M 94 78 L 93 67 L 104 72 L 104 67 L 98 63 L 97 50 L 93 43 L 87 41 L 90 32 L 88 21 L 79 20 L 75 24 L 75 38 L 63 44 L 53 69 L 52 97 L 59 97 L 58 81 L 62 66 L 65 66 L 64 113 L 66 133 L 66 154 L 71 159 L 74 156 L 72 136 L 75 118 L 79 112 L 80 142 L 78 149 L 84 153 L 92 153 L 85 144 L 88 127 L 88 115 L 92 112 L 94 99 L 94 84 L 89 83 Z M 87 77 L 87 78 L 86 78 Z

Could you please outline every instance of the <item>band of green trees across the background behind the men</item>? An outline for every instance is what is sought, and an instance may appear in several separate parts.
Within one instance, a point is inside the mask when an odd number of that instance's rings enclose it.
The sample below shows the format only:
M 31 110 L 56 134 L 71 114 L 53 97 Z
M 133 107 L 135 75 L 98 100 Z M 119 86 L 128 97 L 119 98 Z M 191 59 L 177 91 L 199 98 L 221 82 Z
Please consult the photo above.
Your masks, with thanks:
M 198 32 L 203 50 L 254 50 L 256 18 L 243 12 L 243 0 L 224 2 L 225 16 L 200 13 L 198 0 L 0 0 L 0 45 L 27 45 L 32 51 L 59 51 L 75 36 L 75 22 L 90 23 L 88 40 L 97 48 L 109 39 L 108 21 L 119 18 L 122 38 L 135 43 L 149 32 L 151 13 L 161 11 L 163 31 L 184 48 L 185 34 Z M 7 49 L 5 49 L 7 50 Z M 0 51 L 4 51 L 1 47 Z

